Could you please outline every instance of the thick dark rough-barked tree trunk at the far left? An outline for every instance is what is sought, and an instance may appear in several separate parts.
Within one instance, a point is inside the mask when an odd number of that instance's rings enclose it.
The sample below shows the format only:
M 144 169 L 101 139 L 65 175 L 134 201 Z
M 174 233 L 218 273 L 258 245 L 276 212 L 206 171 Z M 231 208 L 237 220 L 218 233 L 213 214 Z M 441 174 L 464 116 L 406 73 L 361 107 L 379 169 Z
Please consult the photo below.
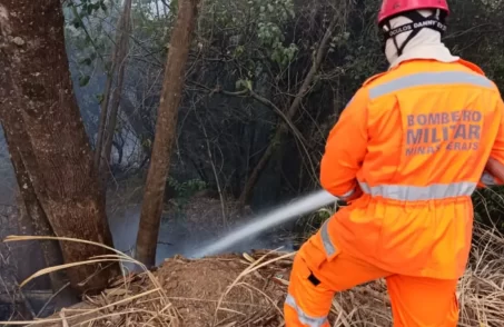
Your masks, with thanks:
M 80 118 L 65 49 L 60 0 L 9 0 L 0 4 L 0 62 L 12 87 L 1 106 L 7 130 L 20 129 L 17 145 L 41 209 L 59 237 L 112 246 L 103 194 Z M 19 182 L 19 181 L 18 181 Z M 110 251 L 60 242 L 65 262 Z M 68 269 L 78 291 L 105 288 L 119 265 L 82 265 Z

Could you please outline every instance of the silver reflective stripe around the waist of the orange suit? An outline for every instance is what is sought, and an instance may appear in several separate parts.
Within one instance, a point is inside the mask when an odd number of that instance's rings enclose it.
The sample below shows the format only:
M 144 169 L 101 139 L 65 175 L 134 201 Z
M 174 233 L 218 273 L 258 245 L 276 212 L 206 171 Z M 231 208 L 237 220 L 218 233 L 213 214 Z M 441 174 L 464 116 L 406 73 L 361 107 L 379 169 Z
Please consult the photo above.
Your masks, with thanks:
M 429 186 L 407 186 L 407 185 L 379 185 L 369 187 L 366 182 L 360 182 L 364 192 L 373 197 L 399 201 L 423 201 L 442 200 L 453 197 L 471 196 L 476 189 L 476 182 L 459 181 L 452 184 L 433 184 Z

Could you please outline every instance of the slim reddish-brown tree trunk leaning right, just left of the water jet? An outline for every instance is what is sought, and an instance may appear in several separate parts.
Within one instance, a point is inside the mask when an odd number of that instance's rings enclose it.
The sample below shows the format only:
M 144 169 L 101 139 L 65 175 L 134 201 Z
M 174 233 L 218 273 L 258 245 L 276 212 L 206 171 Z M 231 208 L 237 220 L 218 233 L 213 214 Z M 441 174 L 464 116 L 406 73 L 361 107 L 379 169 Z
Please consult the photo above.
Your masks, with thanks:
M 140 227 L 137 236 L 137 258 L 147 266 L 156 262 L 156 246 L 161 220 L 162 199 L 176 135 L 186 62 L 200 0 L 179 0 L 177 22 L 171 33 L 165 69 L 161 100 L 158 108 L 152 156 L 147 175 Z

